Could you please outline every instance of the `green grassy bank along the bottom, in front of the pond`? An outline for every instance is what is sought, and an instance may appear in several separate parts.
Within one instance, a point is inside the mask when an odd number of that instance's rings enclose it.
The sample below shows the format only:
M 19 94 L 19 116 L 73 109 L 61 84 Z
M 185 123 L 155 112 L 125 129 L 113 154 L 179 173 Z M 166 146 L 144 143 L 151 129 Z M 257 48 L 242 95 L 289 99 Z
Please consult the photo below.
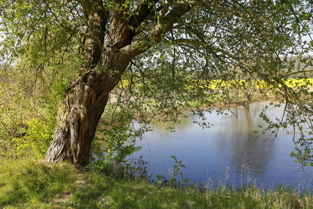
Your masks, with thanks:
M 0 208 L 312 208 L 312 194 L 279 187 L 158 187 L 72 164 L 1 160 Z

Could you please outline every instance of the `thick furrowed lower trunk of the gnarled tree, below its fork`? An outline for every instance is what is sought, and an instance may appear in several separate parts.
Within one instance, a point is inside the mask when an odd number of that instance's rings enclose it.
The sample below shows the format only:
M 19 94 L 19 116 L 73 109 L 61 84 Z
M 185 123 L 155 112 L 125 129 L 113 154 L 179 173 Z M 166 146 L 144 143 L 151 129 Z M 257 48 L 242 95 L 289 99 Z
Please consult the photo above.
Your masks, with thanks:
M 129 64 L 127 57 L 114 50 L 103 59 L 105 62 L 100 65 L 104 70 L 88 70 L 73 79 L 65 93 L 56 118 L 54 141 L 47 150 L 47 162 L 70 160 L 82 167 L 88 164 L 90 146 L 109 93 Z

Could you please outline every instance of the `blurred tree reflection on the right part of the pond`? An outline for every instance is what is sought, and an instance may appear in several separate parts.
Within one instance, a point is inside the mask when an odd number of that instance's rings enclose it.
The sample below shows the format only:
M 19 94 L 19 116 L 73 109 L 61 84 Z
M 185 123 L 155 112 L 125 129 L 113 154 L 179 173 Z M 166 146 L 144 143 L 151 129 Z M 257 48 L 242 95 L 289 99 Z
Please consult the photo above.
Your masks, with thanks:
M 217 147 L 220 153 L 229 157 L 234 172 L 241 173 L 243 163 L 246 163 L 255 174 L 264 175 L 266 165 L 275 152 L 275 144 L 264 143 L 264 137 L 268 136 L 261 137 L 255 133 L 258 130 L 257 125 L 262 122 L 258 120 L 262 109 L 236 106 L 232 111 L 234 115 L 222 115 L 216 124 Z

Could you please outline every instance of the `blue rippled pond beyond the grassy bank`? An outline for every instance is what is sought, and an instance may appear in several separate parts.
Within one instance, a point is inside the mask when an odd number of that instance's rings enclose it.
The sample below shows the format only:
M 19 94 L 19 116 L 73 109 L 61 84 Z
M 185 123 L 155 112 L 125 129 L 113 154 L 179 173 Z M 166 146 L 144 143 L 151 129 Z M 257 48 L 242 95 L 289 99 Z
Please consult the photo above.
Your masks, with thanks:
M 258 125 L 265 125 L 259 114 L 268 102 L 234 106 L 225 114 L 216 111 L 205 113 L 210 128 L 193 123 L 193 116 L 182 119 L 175 132 L 166 130 L 163 123 L 152 124 L 152 132 L 138 141 L 141 150 L 134 157 L 143 156 L 149 162 L 148 171 L 155 180 L 156 174 L 170 178 L 175 155 L 186 168 L 183 178 L 191 183 L 207 183 L 214 187 L 223 182 L 228 185 L 247 185 L 255 182 L 264 189 L 280 183 L 301 191 L 313 183 L 313 168 L 300 168 L 290 153 L 294 150 L 293 135 L 280 131 L 274 139 L 270 132 L 255 133 Z M 267 109 L 270 118 L 280 117 L 282 107 Z M 299 167 L 300 169 L 297 169 Z

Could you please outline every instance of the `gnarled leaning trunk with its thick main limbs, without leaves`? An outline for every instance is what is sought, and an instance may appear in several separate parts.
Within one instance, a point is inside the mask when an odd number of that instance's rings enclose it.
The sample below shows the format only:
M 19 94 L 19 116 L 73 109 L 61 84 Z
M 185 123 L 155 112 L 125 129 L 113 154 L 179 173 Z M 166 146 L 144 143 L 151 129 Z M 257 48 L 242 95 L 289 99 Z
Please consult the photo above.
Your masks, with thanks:
M 77 166 L 86 166 L 95 130 L 102 116 L 109 93 L 120 81 L 131 59 L 145 52 L 161 40 L 161 35 L 170 31 L 190 6 L 177 6 L 162 17 L 147 39 L 134 42 L 134 28 L 140 26 L 150 10 L 147 1 L 142 1 L 135 15 L 125 18 L 119 6 L 111 8 L 110 26 L 106 29 L 108 14 L 101 0 L 80 0 L 88 23 L 86 47 L 79 75 L 68 86 L 56 118 L 54 141 L 47 154 L 47 162 L 70 160 Z M 122 1 L 117 1 L 122 5 Z M 120 6 L 121 6 L 120 5 Z M 72 30 L 70 30 L 72 31 Z M 104 43 L 104 36 L 106 42 Z

